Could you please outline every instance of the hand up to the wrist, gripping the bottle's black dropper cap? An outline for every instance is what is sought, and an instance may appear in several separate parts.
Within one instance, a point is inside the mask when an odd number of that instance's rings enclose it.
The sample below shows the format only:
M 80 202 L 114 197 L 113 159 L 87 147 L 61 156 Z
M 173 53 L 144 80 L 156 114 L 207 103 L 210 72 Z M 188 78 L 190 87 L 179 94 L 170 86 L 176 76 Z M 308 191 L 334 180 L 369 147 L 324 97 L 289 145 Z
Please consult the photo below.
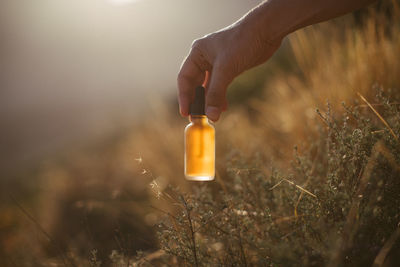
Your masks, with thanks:
M 206 88 L 206 115 L 217 121 L 227 108 L 226 89 L 242 72 L 266 60 L 278 49 L 281 39 L 270 41 L 252 23 L 234 25 L 193 42 L 179 75 L 179 106 L 189 115 L 196 86 Z

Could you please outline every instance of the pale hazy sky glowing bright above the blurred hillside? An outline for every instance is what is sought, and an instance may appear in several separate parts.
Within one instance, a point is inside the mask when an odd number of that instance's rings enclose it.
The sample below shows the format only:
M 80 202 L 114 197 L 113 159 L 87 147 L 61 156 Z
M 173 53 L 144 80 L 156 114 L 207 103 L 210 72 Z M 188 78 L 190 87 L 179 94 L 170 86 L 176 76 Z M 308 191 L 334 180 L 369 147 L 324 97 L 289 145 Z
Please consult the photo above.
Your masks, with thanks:
M 133 120 L 149 93 L 175 95 L 193 39 L 258 2 L 1 0 L 3 165 L 95 138 L 122 115 Z

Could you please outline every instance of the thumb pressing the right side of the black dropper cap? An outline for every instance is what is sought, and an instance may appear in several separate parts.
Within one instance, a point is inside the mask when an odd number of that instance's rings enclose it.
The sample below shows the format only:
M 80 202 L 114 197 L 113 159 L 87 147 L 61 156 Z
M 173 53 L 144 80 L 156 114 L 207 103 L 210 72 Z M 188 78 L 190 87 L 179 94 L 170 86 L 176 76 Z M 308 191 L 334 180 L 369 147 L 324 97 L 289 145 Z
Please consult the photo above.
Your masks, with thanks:
M 206 115 L 212 121 L 217 121 L 226 105 L 226 88 L 232 81 L 220 67 L 214 67 L 206 97 Z

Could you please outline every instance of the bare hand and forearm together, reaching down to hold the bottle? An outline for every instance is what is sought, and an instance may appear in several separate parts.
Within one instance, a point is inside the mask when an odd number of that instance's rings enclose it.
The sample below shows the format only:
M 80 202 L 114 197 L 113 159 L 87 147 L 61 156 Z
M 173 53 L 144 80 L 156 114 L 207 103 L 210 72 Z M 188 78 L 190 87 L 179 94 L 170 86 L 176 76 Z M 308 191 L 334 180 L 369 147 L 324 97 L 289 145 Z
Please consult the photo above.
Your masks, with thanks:
M 269 0 L 241 19 L 193 42 L 178 74 L 182 116 L 196 86 L 206 88 L 206 115 L 217 121 L 227 109 L 226 90 L 242 72 L 266 62 L 282 39 L 300 28 L 364 7 L 374 0 Z

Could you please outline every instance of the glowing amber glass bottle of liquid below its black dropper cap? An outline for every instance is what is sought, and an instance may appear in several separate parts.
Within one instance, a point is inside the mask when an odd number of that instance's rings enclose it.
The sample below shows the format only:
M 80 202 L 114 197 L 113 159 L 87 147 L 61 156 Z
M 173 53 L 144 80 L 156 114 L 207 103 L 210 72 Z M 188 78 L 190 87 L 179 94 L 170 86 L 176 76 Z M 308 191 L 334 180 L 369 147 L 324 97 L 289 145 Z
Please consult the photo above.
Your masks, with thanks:
M 205 115 L 190 116 L 185 128 L 185 177 L 210 181 L 215 176 L 215 129 Z

